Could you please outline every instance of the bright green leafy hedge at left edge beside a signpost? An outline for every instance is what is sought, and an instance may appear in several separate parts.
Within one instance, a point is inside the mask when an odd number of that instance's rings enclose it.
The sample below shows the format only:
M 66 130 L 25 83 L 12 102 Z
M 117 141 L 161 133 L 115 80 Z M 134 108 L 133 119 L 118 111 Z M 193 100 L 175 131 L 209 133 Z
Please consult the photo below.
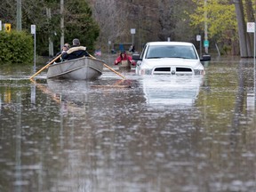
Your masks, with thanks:
M 33 37 L 28 33 L 12 30 L 0 31 L 0 63 L 31 63 L 33 60 Z

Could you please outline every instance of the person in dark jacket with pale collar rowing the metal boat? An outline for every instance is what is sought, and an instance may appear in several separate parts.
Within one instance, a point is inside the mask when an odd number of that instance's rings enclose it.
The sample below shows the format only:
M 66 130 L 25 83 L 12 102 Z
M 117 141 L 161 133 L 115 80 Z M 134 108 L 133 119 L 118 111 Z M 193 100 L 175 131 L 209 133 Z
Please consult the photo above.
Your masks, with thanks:
M 74 60 L 81 57 L 90 57 L 90 54 L 86 52 L 86 47 L 80 45 L 79 39 L 73 39 L 73 45 L 67 52 L 61 53 L 61 58 L 63 60 Z

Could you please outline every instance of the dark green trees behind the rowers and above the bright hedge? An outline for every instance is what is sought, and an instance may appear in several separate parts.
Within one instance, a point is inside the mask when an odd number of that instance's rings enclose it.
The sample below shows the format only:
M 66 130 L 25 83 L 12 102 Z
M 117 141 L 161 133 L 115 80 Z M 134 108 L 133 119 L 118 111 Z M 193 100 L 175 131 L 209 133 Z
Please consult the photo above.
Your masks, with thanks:
M 1 0 L 2 23 L 12 24 L 16 28 L 16 0 Z M 98 24 L 92 19 L 92 10 L 88 1 L 64 1 L 65 43 L 72 44 L 73 38 L 79 38 L 89 51 L 94 50 L 94 42 L 100 34 Z M 14 4 L 9 7 L 10 4 Z M 8 14 L 7 14 L 8 13 Z M 30 26 L 36 25 L 36 53 L 48 56 L 49 39 L 53 42 L 54 54 L 60 52 L 60 0 L 22 0 L 22 30 L 30 33 Z M 3 59 L 1 59 L 3 60 Z

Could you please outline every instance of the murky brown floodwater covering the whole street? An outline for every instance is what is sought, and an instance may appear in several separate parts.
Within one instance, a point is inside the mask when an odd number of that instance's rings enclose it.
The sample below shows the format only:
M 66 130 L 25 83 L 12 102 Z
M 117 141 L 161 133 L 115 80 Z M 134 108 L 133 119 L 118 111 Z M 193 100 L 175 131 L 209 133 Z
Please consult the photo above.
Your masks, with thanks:
M 205 69 L 31 82 L 1 67 L 0 191 L 256 191 L 253 60 Z

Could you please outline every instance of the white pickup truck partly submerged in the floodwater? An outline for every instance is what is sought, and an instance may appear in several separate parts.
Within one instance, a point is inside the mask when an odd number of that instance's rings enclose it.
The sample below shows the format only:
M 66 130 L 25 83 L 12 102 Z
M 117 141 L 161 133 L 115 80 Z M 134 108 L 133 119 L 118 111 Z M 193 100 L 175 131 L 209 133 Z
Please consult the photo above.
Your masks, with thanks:
M 137 60 L 138 75 L 204 75 L 201 61 L 211 60 L 211 56 L 200 60 L 194 44 L 187 42 L 149 42 L 132 60 Z

